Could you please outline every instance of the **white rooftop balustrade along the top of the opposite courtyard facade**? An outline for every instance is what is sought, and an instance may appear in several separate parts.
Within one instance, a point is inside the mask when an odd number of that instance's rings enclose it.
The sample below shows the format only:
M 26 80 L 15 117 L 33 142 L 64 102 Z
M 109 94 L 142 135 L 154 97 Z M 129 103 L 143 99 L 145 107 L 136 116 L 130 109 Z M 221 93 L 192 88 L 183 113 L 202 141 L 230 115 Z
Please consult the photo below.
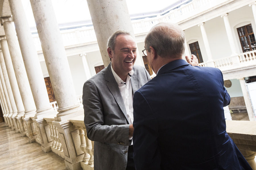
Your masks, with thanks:
M 173 7 L 173 10 L 163 13 L 158 17 L 132 20 L 133 31 L 135 36 L 146 35 L 150 28 L 159 22 L 179 24 L 185 20 L 189 20 L 191 16 L 197 16 L 204 11 L 208 11 L 210 8 L 218 7 L 228 2 L 230 2 L 230 0 L 187 0 L 183 2 L 184 5 Z M 97 42 L 93 26 L 61 30 L 61 36 L 66 48 L 77 46 L 78 44 L 82 45 Z M 42 47 L 38 34 L 33 34 L 33 39 L 36 50 L 41 52 Z

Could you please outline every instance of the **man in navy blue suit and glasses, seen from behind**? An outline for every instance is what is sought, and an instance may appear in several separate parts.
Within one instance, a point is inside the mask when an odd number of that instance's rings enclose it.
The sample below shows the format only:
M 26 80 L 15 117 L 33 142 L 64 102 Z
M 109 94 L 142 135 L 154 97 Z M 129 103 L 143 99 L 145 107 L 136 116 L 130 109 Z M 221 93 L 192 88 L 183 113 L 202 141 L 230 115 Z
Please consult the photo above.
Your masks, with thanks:
M 230 96 L 221 71 L 191 66 L 184 50 L 176 24 L 160 23 L 146 36 L 143 52 L 157 75 L 133 97 L 135 168 L 251 170 L 226 132 Z

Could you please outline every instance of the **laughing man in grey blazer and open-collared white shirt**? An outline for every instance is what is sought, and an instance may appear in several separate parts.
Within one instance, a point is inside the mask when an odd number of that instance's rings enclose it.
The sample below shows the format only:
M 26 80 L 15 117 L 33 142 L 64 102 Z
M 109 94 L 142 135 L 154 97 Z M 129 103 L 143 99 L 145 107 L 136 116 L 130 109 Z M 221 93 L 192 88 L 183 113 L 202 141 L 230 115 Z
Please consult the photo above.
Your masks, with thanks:
M 150 76 L 144 67 L 133 66 L 137 45 L 129 33 L 115 32 L 107 50 L 111 63 L 83 87 L 84 124 L 88 138 L 95 141 L 94 169 L 135 170 L 133 94 Z M 198 64 L 196 57 L 193 63 Z

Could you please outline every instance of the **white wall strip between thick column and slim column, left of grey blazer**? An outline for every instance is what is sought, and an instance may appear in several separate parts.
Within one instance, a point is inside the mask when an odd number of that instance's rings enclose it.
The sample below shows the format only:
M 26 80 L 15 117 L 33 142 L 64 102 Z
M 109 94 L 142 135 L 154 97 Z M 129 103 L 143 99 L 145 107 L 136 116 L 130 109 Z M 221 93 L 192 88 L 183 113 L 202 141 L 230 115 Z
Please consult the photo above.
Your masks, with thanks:
M 87 80 L 84 72 L 82 57 L 80 55 L 68 56 L 69 68 L 75 86 L 76 95 L 81 95 L 84 82 Z

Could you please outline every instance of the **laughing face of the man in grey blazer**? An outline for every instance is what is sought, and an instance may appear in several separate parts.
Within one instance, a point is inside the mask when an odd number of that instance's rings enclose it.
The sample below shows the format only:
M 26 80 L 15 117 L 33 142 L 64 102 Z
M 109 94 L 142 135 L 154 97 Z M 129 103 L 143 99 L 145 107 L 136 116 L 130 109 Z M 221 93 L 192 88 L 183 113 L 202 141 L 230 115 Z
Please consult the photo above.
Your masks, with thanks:
M 137 57 L 137 45 L 130 35 L 118 35 L 116 37 L 115 49 L 108 48 L 112 67 L 115 73 L 123 79 L 133 69 Z

